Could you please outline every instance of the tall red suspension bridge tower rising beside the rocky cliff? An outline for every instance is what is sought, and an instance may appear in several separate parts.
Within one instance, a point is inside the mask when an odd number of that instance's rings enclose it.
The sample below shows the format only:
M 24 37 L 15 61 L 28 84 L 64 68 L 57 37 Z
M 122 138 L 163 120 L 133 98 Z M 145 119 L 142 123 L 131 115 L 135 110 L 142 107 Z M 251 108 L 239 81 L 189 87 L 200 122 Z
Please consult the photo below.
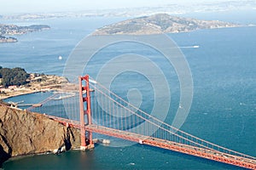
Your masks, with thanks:
M 84 82 L 84 84 L 83 84 Z M 84 103 L 86 110 L 84 110 Z M 92 141 L 92 133 L 85 131 L 85 125 L 91 124 L 91 113 L 90 113 L 90 87 L 89 87 L 89 76 L 79 77 L 79 104 L 80 104 L 80 132 L 81 132 L 81 150 L 94 148 Z M 84 123 L 84 115 L 86 115 L 86 122 Z

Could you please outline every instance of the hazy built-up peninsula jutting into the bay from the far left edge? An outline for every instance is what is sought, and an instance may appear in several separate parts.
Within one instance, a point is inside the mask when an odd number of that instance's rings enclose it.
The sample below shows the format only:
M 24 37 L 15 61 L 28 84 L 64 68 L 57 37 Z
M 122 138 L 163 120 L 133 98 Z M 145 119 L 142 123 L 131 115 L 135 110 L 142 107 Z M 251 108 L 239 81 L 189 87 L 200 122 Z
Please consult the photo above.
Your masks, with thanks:
M 33 31 L 49 30 L 48 25 L 32 25 L 32 26 L 16 26 L 0 24 L 0 42 L 18 42 L 15 37 L 9 37 L 10 35 L 26 34 Z

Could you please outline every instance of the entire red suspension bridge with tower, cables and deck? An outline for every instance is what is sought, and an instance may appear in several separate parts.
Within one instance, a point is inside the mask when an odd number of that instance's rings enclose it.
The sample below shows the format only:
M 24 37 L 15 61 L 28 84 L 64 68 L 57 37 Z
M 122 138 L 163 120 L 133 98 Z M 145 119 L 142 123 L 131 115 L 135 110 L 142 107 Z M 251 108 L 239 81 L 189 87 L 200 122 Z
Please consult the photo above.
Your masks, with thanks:
M 61 100 L 66 100 L 64 106 L 60 106 Z M 32 106 L 27 110 L 47 113 L 46 116 L 57 122 L 79 128 L 83 150 L 94 147 L 92 133 L 101 133 L 237 167 L 256 169 L 256 157 L 172 127 L 131 105 L 99 82 L 92 83 L 88 75 L 79 77 L 79 93 L 64 97 L 53 94 L 44 99 L 40 106 Z

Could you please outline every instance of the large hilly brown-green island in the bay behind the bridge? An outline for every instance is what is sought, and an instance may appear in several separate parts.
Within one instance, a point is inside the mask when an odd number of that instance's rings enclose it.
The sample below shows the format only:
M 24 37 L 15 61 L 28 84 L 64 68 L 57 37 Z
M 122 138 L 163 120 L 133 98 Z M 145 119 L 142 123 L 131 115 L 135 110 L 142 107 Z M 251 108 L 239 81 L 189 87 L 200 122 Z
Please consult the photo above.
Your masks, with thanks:
M 103 26 L 92 35 L 147 35 L 236 26 L 240 25 L 218 20 L 195 20 L 169 14 L 154 14 Z

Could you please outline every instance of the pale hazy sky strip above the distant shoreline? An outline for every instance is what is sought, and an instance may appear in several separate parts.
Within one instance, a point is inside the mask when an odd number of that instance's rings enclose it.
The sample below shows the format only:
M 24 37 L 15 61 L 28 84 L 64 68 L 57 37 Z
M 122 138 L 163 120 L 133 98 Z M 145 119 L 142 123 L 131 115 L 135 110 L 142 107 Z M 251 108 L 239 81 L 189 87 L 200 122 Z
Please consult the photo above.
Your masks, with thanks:
M 0 0 L 1 14 L 74 12 L 102 8 L 152 7 L 165 4 L 226 2 L 227 0 Z

